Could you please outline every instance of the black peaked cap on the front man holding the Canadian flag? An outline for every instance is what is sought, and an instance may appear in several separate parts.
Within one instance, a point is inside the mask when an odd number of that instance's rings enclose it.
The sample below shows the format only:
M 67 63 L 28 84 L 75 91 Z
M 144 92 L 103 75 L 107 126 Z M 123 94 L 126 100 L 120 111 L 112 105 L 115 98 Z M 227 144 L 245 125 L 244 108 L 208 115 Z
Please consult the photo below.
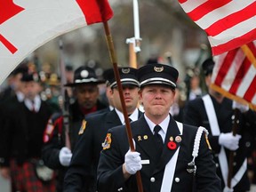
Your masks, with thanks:
M 148 84 L 166 84 L 175 89 L 178 76 L 176 68 L 159 63 L 149 63 L 139 68 L 138 72 L 140 87 Z

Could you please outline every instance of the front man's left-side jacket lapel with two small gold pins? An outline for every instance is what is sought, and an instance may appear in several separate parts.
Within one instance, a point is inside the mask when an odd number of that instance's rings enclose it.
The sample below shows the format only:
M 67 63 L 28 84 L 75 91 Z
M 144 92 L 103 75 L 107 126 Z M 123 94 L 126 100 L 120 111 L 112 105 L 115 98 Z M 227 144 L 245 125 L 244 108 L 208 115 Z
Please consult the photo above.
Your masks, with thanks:
M 150 158 L 152 158 L 152 160 L 156 163 L 159 159 L 156 148 L 156 140 L 154 140 L 153 133 L 150 131 L 144 116 L 140 117 L 140 119 L 132 123 L 132 125 L 132 135 L 133 140 L 136 143 L 136 150 L 138 149 L 138 151 L 143 151 L 143 154 L 150 156 Z

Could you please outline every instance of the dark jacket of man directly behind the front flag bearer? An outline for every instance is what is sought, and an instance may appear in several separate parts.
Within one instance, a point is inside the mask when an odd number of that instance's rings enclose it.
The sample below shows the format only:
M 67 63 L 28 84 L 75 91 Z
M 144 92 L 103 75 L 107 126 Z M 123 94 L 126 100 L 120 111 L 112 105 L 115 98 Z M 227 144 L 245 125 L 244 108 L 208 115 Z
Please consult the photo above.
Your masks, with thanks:
M 139 111 L 139 116 L 141 115 Z M 115 109 L 86 119 L 85 130 L 77 140 L 71 164 L 65 176 L 64 191 L 82 191 L 82 188 L 85 191 L 95 191 L 102 143 L 108 129 L 121 124 Z

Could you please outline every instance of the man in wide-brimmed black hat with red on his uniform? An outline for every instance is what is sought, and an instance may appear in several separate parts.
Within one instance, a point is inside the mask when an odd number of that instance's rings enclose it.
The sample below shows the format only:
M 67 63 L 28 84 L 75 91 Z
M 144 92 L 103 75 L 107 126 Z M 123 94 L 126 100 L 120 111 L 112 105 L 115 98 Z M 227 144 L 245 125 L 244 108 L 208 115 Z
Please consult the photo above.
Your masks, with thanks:
M 73 88 L 76 100 L 69 106 L 69 138 L 71 148 L 66 147 L 63 116 L 55 113 L 51 116 L 44 131 L 42 156 L 47 166 L 57 171 L 58 187 L 63 190 L 63 180 L 70 164 L 72 150 L 76 145 L 78 132 L 84 116 L 97 110 L 107 108 L 100 102 L 98 84 L 104 81 L 97 78 L 94 69 L 80 67 L 75 70 L 73 83 L 66 84 Z

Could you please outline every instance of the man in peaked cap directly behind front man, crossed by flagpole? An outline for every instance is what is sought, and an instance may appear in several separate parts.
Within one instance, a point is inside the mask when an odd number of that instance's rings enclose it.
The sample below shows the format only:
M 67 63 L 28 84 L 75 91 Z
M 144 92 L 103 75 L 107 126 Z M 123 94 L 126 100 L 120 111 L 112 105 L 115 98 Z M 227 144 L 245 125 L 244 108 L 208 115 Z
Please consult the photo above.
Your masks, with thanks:
M 142 114 L 137 108 L 139 101 L 137 69 L 118 68 L 118 70 L 123 87 L 125 108 L 130 119 L 136 121 Z M 64 191 L 96 191 L 96 172 L 102 143 L 109 128 L 124 124 L 122 105 L 112 68 L 106 71 L 106 77 L 111 89 L 110 99 L 115 108 L 109 112 L 85 117 L 65 177 Z

